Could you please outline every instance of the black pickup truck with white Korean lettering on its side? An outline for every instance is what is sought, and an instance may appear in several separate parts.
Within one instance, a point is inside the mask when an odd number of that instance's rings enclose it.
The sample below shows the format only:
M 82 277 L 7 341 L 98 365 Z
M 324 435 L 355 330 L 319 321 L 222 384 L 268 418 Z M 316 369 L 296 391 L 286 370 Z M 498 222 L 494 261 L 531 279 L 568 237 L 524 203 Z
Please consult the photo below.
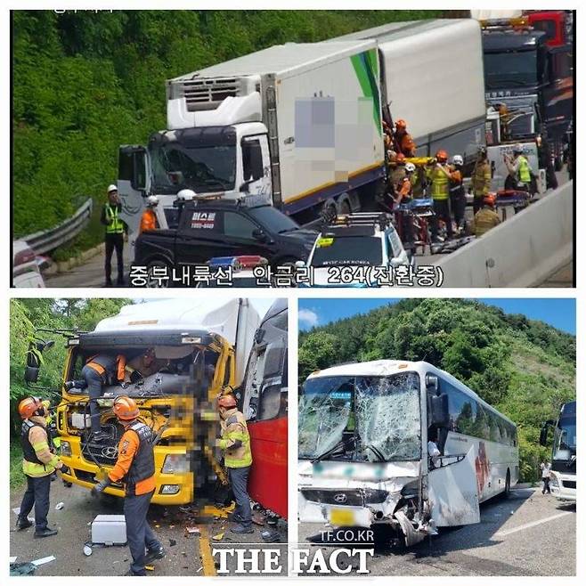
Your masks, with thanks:
M 259 255 L 276 267 L 305 260 L 316 237 L 272 206 L 193 200 L 181 204 L 176 228 L 142 232 L 134 265 L 172 269 L 205 265 L 215 256 Z

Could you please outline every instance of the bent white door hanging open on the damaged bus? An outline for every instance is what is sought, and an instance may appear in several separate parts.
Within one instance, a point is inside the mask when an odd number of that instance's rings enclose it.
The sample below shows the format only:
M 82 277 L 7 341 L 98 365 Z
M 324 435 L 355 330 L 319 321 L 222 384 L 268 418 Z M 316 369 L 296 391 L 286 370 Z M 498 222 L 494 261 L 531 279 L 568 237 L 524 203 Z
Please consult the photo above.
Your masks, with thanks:
M 466 455 L 438 456 L 427 475 L 431 518 L 436 527 L 480 521 L 475 448 Z

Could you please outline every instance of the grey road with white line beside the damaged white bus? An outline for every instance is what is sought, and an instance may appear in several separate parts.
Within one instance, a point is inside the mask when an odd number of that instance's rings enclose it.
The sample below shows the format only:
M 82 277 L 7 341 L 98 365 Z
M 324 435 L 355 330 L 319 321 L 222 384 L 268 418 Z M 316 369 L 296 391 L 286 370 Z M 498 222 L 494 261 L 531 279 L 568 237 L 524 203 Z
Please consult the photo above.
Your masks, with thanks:
M 575 575 L 574 504 L 544 496 L 539 488 L 517 489 L 508 499 L 482 504 L 480 517 L 477 525 L 440 530 L 430 541 L 403 552 L 390 546 L 384 533 L 376 534 L 370 575 Z M 321 529 L 322 525 L 299 525 L 297 547 L 305 547 Z

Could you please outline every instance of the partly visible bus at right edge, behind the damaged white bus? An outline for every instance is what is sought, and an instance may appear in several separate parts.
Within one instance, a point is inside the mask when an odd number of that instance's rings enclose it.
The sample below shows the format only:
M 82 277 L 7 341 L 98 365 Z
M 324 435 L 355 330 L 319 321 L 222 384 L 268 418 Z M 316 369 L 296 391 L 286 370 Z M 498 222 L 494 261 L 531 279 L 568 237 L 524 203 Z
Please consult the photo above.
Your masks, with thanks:
M 548 442 L 549 427 L 554 427 L 549 487 L 560 501 L 576 500 L 576 402 L 564 403 L 558 421 L 549 419 L 541 427 L 540 444 Z

